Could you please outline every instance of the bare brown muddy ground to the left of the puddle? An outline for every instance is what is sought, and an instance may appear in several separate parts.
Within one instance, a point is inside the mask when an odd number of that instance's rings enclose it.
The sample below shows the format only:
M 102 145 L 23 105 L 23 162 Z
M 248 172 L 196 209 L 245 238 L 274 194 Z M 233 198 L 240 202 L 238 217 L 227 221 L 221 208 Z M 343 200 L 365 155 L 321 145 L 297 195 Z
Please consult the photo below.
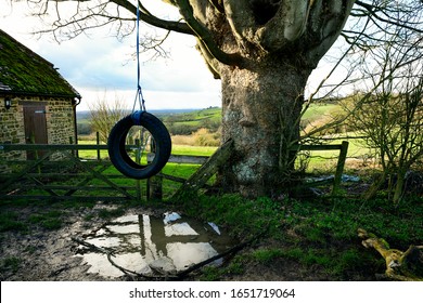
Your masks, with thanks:
M 2 211 L 7 210 L 3 208 Z M 9 207 L 9 211 L 16 210 Z M 31 213 L 40 212 L 40 207 L 17 211 L 22 221 L 26 221 Z M 95 212 L 95 208 L 67 211 L 62 227 L 55 230 L 30 224 L 30 230 L 1 233 L 1 280 L 104 280 L 86 273 L 89 266 L 81 264 L 81 258 L 75 256 L 78 245 L 72 240 L 72 237 L 102 224 L 101 220 L 85 220 Z

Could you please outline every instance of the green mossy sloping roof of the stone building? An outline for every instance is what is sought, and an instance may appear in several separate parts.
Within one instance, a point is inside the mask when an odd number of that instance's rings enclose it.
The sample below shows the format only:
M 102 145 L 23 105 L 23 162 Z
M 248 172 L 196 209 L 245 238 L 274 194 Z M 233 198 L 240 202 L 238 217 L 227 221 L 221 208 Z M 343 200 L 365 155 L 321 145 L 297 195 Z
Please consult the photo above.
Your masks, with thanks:
M 79 97 L 53 64 L 1 29 L 0 94 Z

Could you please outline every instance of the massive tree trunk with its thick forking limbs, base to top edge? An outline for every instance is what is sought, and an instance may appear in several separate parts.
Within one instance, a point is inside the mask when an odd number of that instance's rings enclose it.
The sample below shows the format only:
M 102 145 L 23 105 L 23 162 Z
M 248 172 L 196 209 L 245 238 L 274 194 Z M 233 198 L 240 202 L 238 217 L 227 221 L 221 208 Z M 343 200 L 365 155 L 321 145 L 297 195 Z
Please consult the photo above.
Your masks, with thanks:
M 226 192 L 273 196 L 290 186 L 304 89 L 338 37 L 354 0 L 172 0 L 222 81 L 222 140 L 234 153 L 218 172 Z M 284 188 L 283 188 L 284 187 Z

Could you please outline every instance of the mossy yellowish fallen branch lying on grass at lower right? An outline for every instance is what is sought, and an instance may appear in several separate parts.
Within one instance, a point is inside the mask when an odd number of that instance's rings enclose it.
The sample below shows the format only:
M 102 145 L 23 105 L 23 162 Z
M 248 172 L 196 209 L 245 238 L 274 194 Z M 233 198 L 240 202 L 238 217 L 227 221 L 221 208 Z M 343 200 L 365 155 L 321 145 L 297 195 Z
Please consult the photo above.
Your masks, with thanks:
M 410 246 L 407 251 L 390 249 L 382 238 L 359 228 L 366 248 L 374 248 L 386 262 L 384 278 L 399 281 L 423 281 L 423 246 Z

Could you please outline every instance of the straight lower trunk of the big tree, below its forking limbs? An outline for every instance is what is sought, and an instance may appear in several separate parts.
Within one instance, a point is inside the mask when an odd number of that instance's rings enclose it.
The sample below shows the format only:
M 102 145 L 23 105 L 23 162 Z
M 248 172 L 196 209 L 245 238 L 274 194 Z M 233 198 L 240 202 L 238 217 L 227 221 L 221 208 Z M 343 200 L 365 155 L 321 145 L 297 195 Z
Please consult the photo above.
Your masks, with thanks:
M 311 71 L 294 64 L 272 57 L 253 68 L 221 70 L 222 141 L 232 139 L 235 147 L 219 172 L 226 190 L 272 196 L 290 180 L 290 146 L 299 137 L 304 88 Z

